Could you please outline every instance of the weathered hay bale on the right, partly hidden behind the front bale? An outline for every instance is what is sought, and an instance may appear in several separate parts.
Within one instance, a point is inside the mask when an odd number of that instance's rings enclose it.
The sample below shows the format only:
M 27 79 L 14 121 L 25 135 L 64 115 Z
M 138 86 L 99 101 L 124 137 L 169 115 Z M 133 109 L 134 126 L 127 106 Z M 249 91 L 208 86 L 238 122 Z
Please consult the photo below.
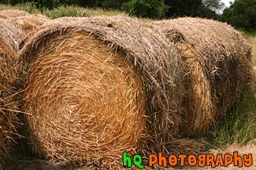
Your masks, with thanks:
M 241 99 L 252 79 L 247 40 L 228 24 L 200 18 L 154 22 L 187 69 L 184 132 L 205 132 Z

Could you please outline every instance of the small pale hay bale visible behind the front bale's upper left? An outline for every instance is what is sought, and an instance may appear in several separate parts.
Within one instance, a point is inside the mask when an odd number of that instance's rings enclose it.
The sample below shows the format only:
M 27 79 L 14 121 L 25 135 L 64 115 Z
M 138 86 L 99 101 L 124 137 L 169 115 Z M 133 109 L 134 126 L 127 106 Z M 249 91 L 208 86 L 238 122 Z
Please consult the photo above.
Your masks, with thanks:
M 50 21 L 46 16 L 39 14 L 29 14 L 26 16 L 17 16 L 10 19 L 18 29 L 23 31 L 25 34 L 31 33 L 39 29 L 43 24 Z

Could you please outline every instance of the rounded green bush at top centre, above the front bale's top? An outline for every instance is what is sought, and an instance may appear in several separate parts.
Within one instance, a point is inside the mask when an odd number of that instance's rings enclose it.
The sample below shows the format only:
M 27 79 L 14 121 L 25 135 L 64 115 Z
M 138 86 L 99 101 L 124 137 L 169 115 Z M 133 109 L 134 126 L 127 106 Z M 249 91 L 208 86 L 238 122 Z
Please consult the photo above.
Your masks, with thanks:
M 121 9 L 132 16 L 159 19 L 165 17 L 169 6 L 158 0 L 132 0 L 124 2 Z

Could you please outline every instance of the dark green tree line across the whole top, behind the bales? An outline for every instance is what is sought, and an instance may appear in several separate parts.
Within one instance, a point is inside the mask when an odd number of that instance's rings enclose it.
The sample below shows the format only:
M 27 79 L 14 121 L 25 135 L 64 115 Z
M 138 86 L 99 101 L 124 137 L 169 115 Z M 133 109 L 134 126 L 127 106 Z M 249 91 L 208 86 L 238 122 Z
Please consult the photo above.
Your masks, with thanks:
M 221 20 L 247 31 L 256 31 L 256 0 L 236 0 L 226 9 L 221 0 L 0 0 L 0 2 L 11 5 L 32 2 L 39 9 L 54 9 L 59 5 L 119 9 L 131 16 L 152 19 L 198 16 Z M 223 13 L 220 14 L 223 9 Z

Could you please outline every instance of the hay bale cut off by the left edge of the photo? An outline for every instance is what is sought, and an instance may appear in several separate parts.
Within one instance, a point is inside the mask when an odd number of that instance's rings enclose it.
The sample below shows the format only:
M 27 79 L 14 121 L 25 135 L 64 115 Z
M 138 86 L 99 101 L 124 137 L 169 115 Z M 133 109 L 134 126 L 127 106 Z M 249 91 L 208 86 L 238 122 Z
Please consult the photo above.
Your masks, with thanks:
M 0 19 L 0 168 L 9 158 L 17 137 L 17 103 L 14 99 L 17 65 L 14 53 L 18 49 L 19 31 L 12 24 Z

